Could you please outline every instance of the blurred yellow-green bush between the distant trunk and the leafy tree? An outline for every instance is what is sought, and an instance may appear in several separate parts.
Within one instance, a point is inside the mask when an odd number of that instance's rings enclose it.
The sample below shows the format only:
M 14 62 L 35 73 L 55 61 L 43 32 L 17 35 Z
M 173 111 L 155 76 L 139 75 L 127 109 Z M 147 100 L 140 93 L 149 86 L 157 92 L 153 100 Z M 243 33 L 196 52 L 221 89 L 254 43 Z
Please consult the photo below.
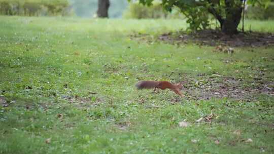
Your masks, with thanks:
M 176 9 L 172 13 L 164 11 L 160 3 L 154 3 L 150 7 L 139 3 L 129 3 L 123 16 L 124 18 L 133 19 L 184 18 L 180 11 Z

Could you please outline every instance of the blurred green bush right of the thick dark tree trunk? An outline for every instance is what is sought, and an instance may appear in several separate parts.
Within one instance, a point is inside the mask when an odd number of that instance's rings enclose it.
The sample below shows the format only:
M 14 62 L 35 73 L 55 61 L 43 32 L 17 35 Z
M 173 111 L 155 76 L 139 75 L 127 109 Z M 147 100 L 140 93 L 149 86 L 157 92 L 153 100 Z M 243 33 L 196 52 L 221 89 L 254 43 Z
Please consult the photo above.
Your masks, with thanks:
M 271 3 L 266 9 L 258 6 L 249 6 L 247 9 L 247 18 L 256 20 L 273 20 L 274 3 Z

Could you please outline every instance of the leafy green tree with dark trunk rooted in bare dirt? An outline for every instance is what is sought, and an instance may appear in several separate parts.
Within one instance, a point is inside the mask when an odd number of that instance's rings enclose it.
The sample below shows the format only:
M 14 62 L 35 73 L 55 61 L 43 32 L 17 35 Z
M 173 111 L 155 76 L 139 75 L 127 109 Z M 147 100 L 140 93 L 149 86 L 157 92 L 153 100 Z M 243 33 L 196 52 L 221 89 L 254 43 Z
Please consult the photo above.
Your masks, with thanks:
M 130 1 L 130 0 L 129 0 Z M 140 0 L 143 5 L 151 6 L 153 0 Z M 247 3 L 250 5 L 268 6 L 270 0 L 251 0 Z M 174 7 L 178 7 L 181 12 L 188 18 L 189 29 L 192 31 L 205 29 L 209 27 L 209 14 L 219 21 L 220 27 L 224 32 L 235 32 L 236 27 L 241 19 L 243 1 L 177 1 L 163 0 L 161 1 L 163 8 L 166 11 L 172 11 Z M 233 26 L 231 24 L 234 23 Z M 225 27 L 225 28 L 223 28 Z

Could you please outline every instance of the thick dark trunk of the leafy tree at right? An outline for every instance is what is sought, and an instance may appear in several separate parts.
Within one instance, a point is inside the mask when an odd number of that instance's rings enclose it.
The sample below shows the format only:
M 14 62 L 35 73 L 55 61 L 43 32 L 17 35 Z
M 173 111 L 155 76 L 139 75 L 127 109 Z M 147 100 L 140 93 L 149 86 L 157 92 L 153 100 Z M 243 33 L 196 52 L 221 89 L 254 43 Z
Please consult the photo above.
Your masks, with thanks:
M 236 34 L 237 27 L 242 18 L 243 7 L 242 4 L 234 4 L 233 0 L 225 0 L 225 14 L 226 18 L 223 20 L 223 23 L 220 23 L 222 32 L 232 35 Z

